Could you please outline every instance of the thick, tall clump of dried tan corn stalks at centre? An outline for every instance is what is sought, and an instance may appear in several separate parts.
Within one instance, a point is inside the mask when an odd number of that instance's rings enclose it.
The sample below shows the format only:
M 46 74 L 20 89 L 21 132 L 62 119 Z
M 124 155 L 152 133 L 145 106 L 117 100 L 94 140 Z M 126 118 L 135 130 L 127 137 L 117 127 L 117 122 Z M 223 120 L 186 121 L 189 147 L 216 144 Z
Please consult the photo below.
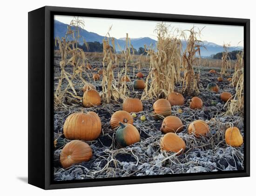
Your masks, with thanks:
M 181 81 L 181 35 L 175 36 L 174 33 L 178 30 L 169 31 L 169 26 L 164 23 L 157 24 L 155 32 L 157 33 L 157 50 L 155 51 L 152 47 L 146 50 L 150 67 L 142 100 L 165 97 L 174 91 L 175 83 Z

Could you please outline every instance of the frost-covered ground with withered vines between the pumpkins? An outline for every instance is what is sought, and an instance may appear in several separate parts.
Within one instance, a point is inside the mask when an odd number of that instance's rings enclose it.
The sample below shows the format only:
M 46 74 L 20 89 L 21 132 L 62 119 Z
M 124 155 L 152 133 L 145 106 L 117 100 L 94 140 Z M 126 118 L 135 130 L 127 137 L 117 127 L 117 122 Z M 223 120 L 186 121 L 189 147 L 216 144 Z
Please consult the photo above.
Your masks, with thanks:
M 59 58 L 54 59 L 54 88 L 58 85 L 60 76 Z M 93 68 L 102 68 L 100 62 L 91 62 Z M 219 70 L 215 68 L 219 73 Z M 85 111 L 94 111 L 101 118 L 102 132 L 95 141 L 87 141 L 93 149 L 93 157 L 88 162 L 75 164 L 67 169 L 62 169 L 59 161 L 61 149 L 54 150 L 54 180 L 92 179 L 106 177 L 129 177 L 145 175 L 179 174 L 208 171 L 231 171 L 243 169 L 243 145 L 233 148 L 226 145 L 224 131 L 232 123 L 237 126 L 243 135 L 243 116 L 225 116 L 224 103 L 220 100 L 220 94 L 228 91 L 235 94 L 235 89 L 229 86 L 224 77 L 224 82 L 216 82 L 218 74 L 209 74 L 209 68 L 201 68 L 201 89 L 199 97 L 203 101 L 203 108 L 192 110 L 189 108 L 188 100 L 191 97 L 184 96 L 183 106 L 172 107 L 172 115 L 178 116 L 185 128 L 178 135 L 186 142 L 186 151 L 175 156 L 174 153 L 162 152 L 159 141 L 163 134 L 160 131 L 162 120 L 155 120 L 152 116 L 152 106 L 155 100 L 143 101 L 143 112 L 137 114 L 134 126 L 139 130 L 141 141 L 126 148 L 120 148 L 115 142 L 115 130 L 109 125 L 111 115 L 121 110 L 120 103 L 102 104 L 101 106 L 84 108 Z M 69 69 L 71 73 L 71 68 Z M 130 68 L 130 78 L 133 69 Z M 142 68 L 141 72 L 148 75 L 148 69 Z M 90 71 L 89 76 L 96 71 Z M 116 74 L 115 70 L 115 74 Z M 135 71 L 137 73 L 137 70 Z M 83 75 L 88 81 L 88 76 Z M 132 79 L 133 80 L 133 79 Z M 65 82 L 65 81 L 64 81 Z M 206 89 L 209 82 L 216 82 L 219 92 L 210 92 Z M 80 80 L 75 80 L 75 89 L 82 97 Z M 91 81 L 97 90 L 101 92 L 101 81 Z M 65 86 L 65 84 L 64 84 Z M 133 91 L 132 82 L 128 82 L 130 96 L 140 98 L 142 91 Z M 71 90 L 70 90 L 71 91 Z M 180 87 L 177 86 L 177 91 Z M 82 103 L 66 99 L 64 102 L 68 107 L 57 107 L 54 112 L 54 139 L 63 137 L 63 124 L 69 114 L 81 111 Z M 181 108 L 182 114 L 177 110 Z M 140 116 L 145 115 L 147 120 L 141 122 Z M 187 127 L 194 120 L 205 120 L 210 127 L 207 137 L 201 139 L 188 134 Z M 69 140 L 65 139 L 66 142 Z

